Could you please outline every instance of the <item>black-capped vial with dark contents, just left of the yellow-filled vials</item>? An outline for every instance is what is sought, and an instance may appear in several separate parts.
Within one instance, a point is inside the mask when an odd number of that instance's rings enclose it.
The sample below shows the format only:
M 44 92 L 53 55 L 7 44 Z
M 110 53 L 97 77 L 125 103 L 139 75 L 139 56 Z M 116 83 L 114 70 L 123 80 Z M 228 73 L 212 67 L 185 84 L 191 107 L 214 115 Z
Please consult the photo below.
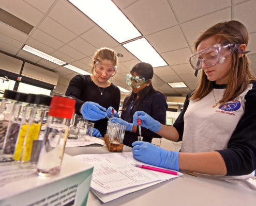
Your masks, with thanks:
M 17 100 L 17 102 L 15 102 L 13 105 L 5 134 L 5 140 L 3 145 L 3 155 L 5 157 L 12 158 L 13 156 L 14 148 L 21 126 L 21 117 L 23 114 L 24 107 L 27 105 L 26 99 L 26 93 L 17 92 L 15 97 L 15 100 Z

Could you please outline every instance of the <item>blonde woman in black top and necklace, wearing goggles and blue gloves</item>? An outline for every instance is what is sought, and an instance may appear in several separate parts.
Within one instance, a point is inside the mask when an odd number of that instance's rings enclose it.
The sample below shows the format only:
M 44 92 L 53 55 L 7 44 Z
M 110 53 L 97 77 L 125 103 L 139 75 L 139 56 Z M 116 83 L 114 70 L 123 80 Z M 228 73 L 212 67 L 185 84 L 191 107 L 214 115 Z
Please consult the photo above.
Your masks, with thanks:
M 109 81 L 116 74 L 116 65 L 113 49 L 98 49 L 92 60 L 92 75 L 73 77 L 66 91 L 67 96 L 76 99 L 76 113 L 95 123 L 93 136 L 96 137 L 106 134 L 108 119 L 105 117 L 110 108 L 119 109 L 120 90 Z

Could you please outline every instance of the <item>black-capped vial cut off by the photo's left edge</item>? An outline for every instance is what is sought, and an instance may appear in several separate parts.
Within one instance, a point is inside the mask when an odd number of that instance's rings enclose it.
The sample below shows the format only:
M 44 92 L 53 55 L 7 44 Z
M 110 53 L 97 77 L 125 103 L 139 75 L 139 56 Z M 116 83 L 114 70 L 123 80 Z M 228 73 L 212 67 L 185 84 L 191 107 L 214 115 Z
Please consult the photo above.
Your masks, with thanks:
M 0 154 L 3 153 L 3 145 L 5 134 L 9 123 L 10 114 L 14 103 L 17 91 L 5 90 L 3 100 L 0 106 Z

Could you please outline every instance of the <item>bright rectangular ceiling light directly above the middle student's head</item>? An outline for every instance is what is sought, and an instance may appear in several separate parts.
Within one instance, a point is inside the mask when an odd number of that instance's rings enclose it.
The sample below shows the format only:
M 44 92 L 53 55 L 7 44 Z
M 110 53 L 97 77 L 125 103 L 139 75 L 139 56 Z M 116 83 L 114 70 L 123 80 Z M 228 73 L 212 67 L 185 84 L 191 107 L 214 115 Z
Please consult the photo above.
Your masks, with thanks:
M 153 67 L 168 65 L 145 38 L 123 44 L 123 46 L 139 60 L 147 62 Z

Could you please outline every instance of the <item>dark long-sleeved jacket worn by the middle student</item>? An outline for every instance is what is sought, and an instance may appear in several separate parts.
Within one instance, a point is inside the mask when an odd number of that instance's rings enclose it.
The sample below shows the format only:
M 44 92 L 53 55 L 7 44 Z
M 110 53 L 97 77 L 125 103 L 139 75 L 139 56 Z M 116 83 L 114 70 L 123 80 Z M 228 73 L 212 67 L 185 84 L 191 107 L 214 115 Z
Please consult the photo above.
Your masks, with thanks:
M 128 97 L 125 98 L 124 103 L 127 100 L 128 100 Z M 156 119 L 158 122 L 165 125 L 166 110 L 168 106 L 164 96 L 161 93 L 159 92 L 148 93 L 148 95 L 145 96 L 143 101 L 140 103 L 137 110 L 135 110 L 135 107 L 133 107 L 133 105 L 134 105 L 133 101 L 129 102 L 127 110 L 122 111 L 121 118 L 124 119 L 124 121 L 128 123 L 132 123 L 133 114 L 136 111 L 144 111 L 148 115 Z M 151 142 L 153 138 L 161 138 L 161 136 L 159 136 L 155 132 L 152 132 L 149 129 L 146 129 L 144 127 L 141 127 L 141 133 L 143 136 L 143 141 L 145 142 Z M 139 136 L 138 127 L 137 127 L 136 133 L 126 131 L 123 143 L 127 146 L 132 147 L 131 144 L 135 141 L 138 141 L 138 136 Z

